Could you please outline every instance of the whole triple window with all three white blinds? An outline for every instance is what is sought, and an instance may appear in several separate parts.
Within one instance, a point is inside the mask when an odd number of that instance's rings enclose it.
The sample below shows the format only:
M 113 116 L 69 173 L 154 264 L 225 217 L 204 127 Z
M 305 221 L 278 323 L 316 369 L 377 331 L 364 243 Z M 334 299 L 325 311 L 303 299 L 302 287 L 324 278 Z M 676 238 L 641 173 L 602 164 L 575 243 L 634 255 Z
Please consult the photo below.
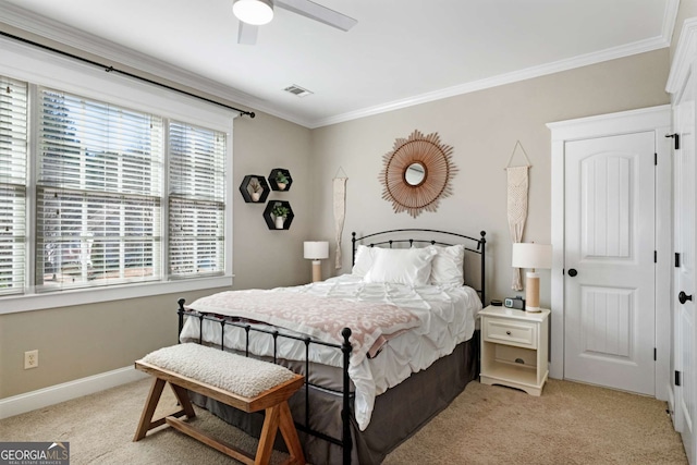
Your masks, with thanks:
M 0 75 L 0 303 L 230 285 L 232 117 L 82 74 L 57 82 L 85 95 Z

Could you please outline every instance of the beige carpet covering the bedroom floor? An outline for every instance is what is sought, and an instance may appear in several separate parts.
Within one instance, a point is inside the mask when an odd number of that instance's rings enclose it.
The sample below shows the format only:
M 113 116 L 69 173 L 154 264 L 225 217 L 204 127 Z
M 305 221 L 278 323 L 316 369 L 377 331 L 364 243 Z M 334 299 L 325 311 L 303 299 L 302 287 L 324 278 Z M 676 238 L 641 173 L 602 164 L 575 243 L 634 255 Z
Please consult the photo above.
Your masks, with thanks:
M 132 442 L 149 389 L 137 381 L 0 420 L 0 441 L 68 441 L 71 464 L 230 464 L 219 452 L 162 427 Z M 170 394 L 167 389 L 166 393 Z M 170 394 L 163 397 L 174 405 Z M 256 441 L 197 409 L 216 437 Z M 285 454 L 274 452 L 272 463 Z M 550 380 L 540 397 L 472 382 L 384 464 L 686 464 L 665 403 Z M 319 465 L 319 464 L 317 464 Z

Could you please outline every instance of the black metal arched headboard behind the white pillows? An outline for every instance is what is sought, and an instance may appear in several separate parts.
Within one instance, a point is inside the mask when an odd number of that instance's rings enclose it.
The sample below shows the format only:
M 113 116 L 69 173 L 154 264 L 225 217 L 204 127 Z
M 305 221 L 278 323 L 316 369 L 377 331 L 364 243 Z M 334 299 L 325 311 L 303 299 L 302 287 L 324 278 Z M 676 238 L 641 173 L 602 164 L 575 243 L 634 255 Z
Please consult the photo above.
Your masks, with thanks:
M 485 246 L 487 244 L 487 240 L 485 236 L 487 235 L 486 231 L 481 231 L 479 233 L 480 237 L 472 237 L 464 234 L 453 233 L 449 231 L 438 231 L 438 230 L 425 230 L 425 229 L 401 229 L 401 230 L 388 230 L 380 231 L 372 234 L 366 234 L 360 237 L 356 237 L 356 233 L 351 233 L 351 243 L 352 243 L 352 253 L 351 253 L 351 265 L 353 266 L 356 262 L 356 247 L 358 245 L 367 245 L 369 247 L 412 247 L 416 244 L 419 245 L 455 245 L 463 244 L 465 246 L 465 250 L 469 253 L 469 255 L 475 254 L 479 259 L 479 283 L 474 284 L 469 282 L 469 285 L 475 289 L 479 293 L 481 298 L 481 303 L 486 305 L 486 282 L 487 274 L 485 272 Z M 467 264 L 467 259 L 465 258 L 465 264 Z M 468 274 L 468 273 L 466 273 Z

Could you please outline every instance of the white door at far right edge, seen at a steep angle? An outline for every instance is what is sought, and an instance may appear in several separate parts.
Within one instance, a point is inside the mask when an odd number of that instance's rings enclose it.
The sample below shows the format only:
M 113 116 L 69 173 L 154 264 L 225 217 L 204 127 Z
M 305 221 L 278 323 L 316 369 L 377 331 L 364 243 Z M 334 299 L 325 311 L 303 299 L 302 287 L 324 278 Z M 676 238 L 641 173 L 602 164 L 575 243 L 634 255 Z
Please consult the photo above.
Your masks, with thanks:
M 680 149 L 674 151 L 674 248 L 678 254 L 673 274 L 673 322 L 674 322 L 674 411 L 675 429 L 681 432 L 685 452 L 690 464 L 697 460 L 695 440 L 695 303 L 687 296 L 695 295 L 695 102 L 693 98 L 694 78 L 688 78 L 686 87 L 674 106 L 675 131 L 680 135 Z M 682 293 L 682 294 L 680 294 Z M 678 297 L 682 295 L 682 299 Z M 695 295 L 697 297 L 697 295 Z

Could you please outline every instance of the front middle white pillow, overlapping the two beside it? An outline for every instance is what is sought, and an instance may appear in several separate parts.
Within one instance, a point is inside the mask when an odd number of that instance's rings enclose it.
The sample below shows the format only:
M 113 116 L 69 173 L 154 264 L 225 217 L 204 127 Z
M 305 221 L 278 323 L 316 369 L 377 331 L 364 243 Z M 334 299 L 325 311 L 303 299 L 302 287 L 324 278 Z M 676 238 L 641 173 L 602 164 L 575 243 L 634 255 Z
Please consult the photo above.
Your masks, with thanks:
M 412 286 L 426 285 L 431 274 L 436 249 L 375 248 L 372 267 L 363 277 L 365 282 L 387 282 Z

